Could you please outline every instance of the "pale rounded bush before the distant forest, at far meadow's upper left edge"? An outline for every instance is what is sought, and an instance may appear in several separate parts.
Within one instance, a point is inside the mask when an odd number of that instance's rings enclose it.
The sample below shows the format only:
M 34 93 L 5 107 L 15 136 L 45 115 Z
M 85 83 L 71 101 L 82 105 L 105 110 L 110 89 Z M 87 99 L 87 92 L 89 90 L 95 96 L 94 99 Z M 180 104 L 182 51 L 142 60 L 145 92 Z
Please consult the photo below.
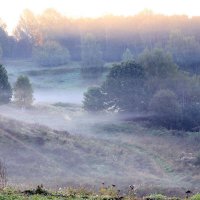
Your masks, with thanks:
M 69 62 L 69 51 L 58 42 L 47 41 L 33 51 L 34 60 L 42 66 L 57 66 Z

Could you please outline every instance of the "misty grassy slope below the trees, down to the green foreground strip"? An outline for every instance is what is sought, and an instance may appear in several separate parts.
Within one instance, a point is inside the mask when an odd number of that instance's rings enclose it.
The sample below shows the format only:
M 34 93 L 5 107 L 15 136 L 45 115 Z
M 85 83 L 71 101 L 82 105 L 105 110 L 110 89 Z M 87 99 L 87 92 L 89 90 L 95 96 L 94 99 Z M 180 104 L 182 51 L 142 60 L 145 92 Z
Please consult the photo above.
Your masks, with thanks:
M 54 116 L 56 112 L 62 114 L 62 109 L 70 110 L 69 107 L 46 107 L 46 116 L 52 109 Z M 32 115 L 32 121 L 35 117 L 38 123 L 22 122 L 20 112 L 25 111 L 18 110 L 15 119 L 0 118 L 0 157 L 7 165 L 9 185 L 23 188 L 39 183 L 49 187 L 99 186 L 106 182 L 120 188 L 135 184 L 137 188 L 172 189 L 196 188 L 200 183 L 199 167 L 194 164 L 199 151 L 199 133 L 145 128 L 106 115 L 104 120 L 102 116 L 84 120 L 86 114 L 83 111 L 77 114 L 73 109 L 71 121 L 61 126 L 62 130 L 55 130 L 42 124 L 44 113 L 39 123 L 38 108 Z M 28 115 L 24 116 L 28 119 Z M 73 117 L 77 117 L 76 121 Z

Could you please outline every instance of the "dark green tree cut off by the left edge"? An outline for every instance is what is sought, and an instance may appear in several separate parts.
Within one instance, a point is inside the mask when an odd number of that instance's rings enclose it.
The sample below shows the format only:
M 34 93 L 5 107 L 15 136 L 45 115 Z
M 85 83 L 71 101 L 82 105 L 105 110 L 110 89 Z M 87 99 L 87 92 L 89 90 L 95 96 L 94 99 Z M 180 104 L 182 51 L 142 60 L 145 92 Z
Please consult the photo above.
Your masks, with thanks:
M 9 103 L 12 97 L 12 89 L 8 82 L 6 69 L 0 65 L 0 103 Z

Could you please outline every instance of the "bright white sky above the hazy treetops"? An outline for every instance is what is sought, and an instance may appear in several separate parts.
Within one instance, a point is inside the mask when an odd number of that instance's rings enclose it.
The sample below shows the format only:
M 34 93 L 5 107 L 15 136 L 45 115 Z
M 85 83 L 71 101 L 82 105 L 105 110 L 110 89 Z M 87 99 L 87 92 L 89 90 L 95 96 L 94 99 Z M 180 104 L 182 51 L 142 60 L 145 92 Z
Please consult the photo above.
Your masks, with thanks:
M 166 15 L 200 15 L 199 0 L 0 0 L 0 18 L 11 30 L 24 9 L 36 14 L 54 8 L 69 17 L 99 17 L 102 15 L 134 15 L 144 9 Z

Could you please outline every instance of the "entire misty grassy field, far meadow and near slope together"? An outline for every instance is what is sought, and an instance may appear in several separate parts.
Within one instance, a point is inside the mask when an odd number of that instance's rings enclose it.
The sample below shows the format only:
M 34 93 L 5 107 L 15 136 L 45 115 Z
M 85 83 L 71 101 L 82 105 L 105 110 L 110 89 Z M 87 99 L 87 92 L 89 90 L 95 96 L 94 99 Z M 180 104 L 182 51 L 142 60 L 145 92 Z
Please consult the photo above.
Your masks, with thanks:
M 52 69 L 28 61 L 9 61 L 5 66 L 12 84 L 26 74 L 35 91 L 30 109 L 0 106 L 0 157 L 6 163 L 9 186 L 25 190 L 43 184 L 55 191 L 83 186 L 98 191 L 104 182 L 126 193 L 129 185 L 135 185 L 139 196 L 198 192 L 199 132 L 85 112 L 83 92 L 103 78 L 84 80 L 77 63 Z

